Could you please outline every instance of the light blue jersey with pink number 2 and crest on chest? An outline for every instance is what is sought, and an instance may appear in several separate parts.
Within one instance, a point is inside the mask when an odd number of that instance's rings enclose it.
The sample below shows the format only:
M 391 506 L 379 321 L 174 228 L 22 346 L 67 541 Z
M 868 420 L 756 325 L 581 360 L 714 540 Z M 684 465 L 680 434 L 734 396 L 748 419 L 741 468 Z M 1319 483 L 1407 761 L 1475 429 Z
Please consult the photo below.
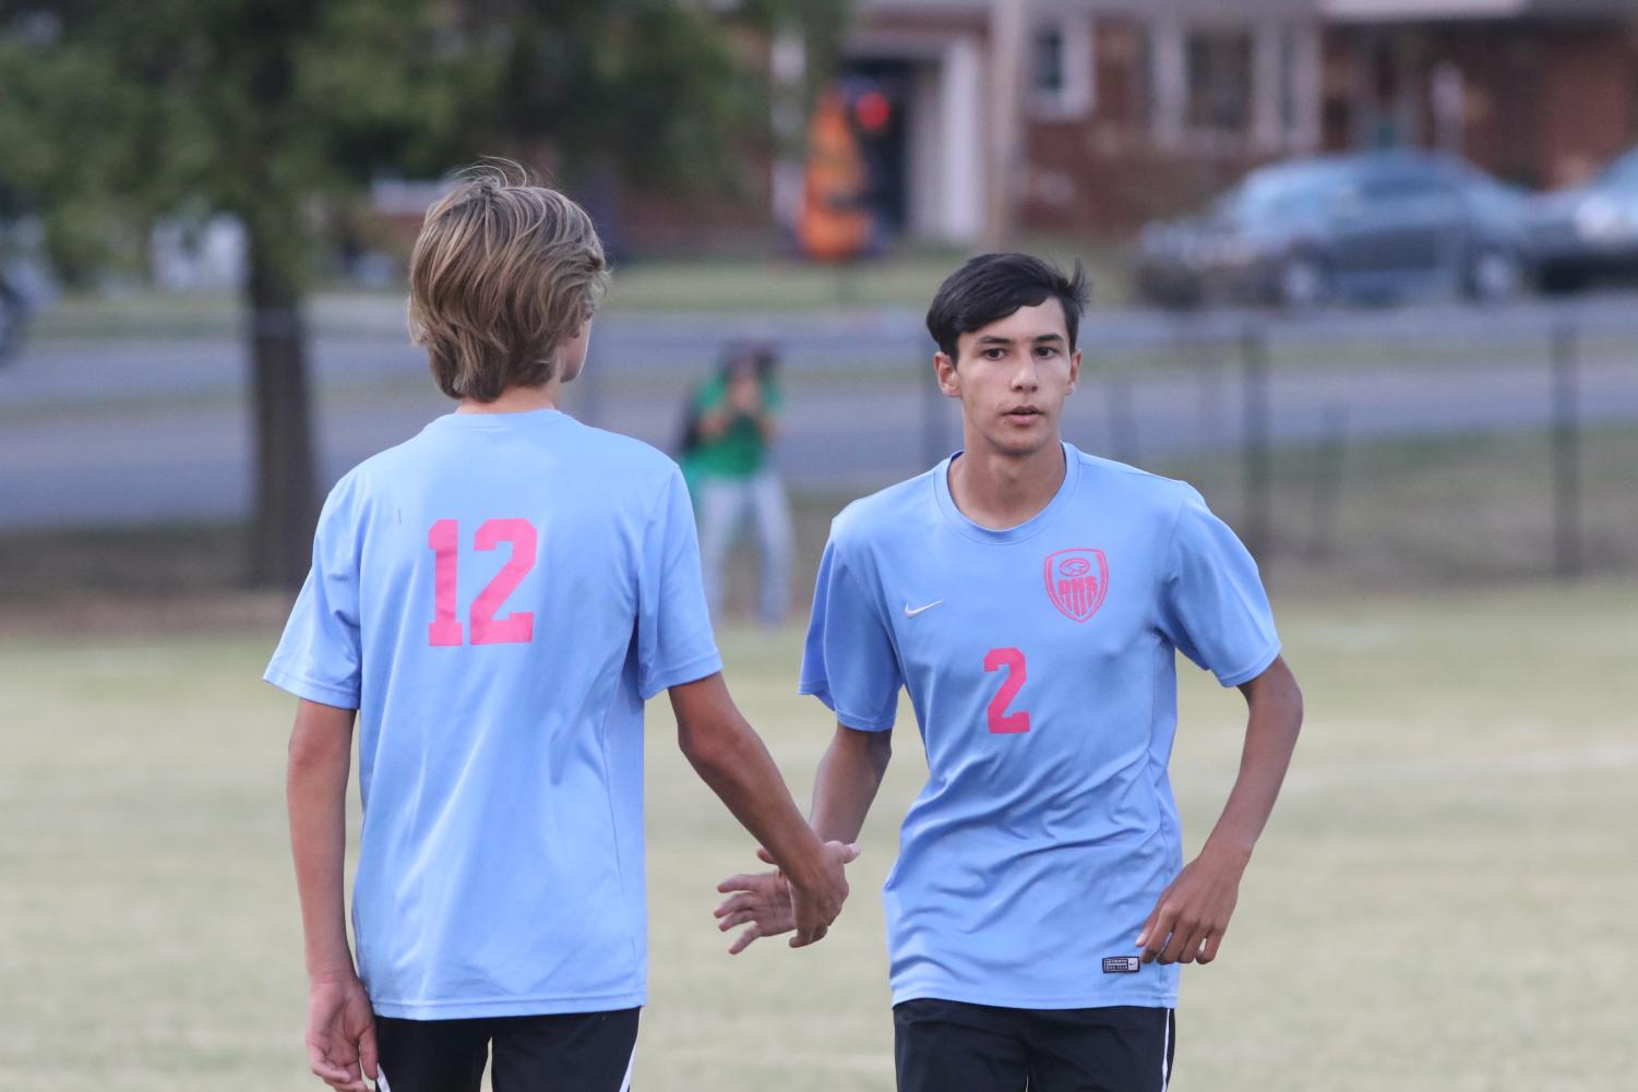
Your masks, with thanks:
M 927 750 L 883 889 L 894 1004 L 1176 1004 L 1178 968 L 1135 945 L 1183 866 L 1174 652 L 1233 686 L 1279 640 L 1199 493 L 1063 450 L 1017 527 L 966 519 L 945 460 L 830 529 L 801 689 L 885 732 L 906 686 Z

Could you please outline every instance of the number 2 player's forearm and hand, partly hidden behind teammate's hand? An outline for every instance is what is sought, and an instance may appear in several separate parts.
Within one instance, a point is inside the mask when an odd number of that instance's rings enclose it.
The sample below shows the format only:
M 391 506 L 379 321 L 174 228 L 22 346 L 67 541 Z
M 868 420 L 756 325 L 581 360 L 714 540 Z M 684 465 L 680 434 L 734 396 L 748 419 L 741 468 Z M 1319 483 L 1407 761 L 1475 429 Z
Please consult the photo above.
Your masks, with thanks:
M 811 822 L 821 838 L 858 842 L 891 758 L 891 732 L 858 732 L 837 722 L 814 778 Z M 767 850 L 758 848 L 757 856 L 768 864 L 775 863 Z M 739 925 L 747 927 L 727 950 L 731 956 L 742 953 L 758 936 L 776 936 L 796 927 L 785 878 L 778 873 L 729 876 L 717 884 L 717 891 L 727 896 L 716 909 L 717 928 L 726 933 Z

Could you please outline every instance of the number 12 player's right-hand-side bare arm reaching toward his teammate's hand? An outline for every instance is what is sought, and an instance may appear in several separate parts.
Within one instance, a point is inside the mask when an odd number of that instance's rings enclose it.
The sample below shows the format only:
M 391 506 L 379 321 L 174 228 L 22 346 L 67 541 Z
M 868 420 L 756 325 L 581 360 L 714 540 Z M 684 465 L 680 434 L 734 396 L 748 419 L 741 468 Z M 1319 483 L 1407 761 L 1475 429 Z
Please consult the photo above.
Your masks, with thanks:
M 734 706 L 722 675 L 670 689 L 676 740 L 701 779 L 791 879 L 793 948 L 822 938 L 847 899 L 844 866 L 858 846 L 821 842 L 785 787 L 778 766 Z

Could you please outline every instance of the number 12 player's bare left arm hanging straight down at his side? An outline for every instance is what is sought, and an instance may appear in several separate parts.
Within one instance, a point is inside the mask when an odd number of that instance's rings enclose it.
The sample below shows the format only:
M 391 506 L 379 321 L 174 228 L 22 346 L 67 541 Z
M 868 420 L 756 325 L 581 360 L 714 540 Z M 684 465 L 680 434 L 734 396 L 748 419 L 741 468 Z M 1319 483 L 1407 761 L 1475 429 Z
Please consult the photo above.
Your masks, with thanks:
M 306 945 L 308 1061 L 333 1089 L 365 1092 L 364 1077 L 377 1076 L 375 1020 L 352 968 L 342 897 L 352 719 L 352 709 L 296 706 L 285 796 Z

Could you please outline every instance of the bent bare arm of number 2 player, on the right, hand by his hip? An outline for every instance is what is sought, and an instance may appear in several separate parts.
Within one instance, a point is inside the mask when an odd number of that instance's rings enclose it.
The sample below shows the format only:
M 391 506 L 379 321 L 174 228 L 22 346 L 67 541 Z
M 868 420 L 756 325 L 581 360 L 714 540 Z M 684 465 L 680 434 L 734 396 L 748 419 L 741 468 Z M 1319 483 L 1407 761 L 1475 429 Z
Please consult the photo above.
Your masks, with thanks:
M 1137 938 L 1143 963 L 1210 963 L 1228 930 L 1240 878 L 1263 833 L 1302 727 L 1302 691 L 1284 658 L 1240 686 L 1250 711 L 1240 774 L 1210 837 L 1160 894 Z

